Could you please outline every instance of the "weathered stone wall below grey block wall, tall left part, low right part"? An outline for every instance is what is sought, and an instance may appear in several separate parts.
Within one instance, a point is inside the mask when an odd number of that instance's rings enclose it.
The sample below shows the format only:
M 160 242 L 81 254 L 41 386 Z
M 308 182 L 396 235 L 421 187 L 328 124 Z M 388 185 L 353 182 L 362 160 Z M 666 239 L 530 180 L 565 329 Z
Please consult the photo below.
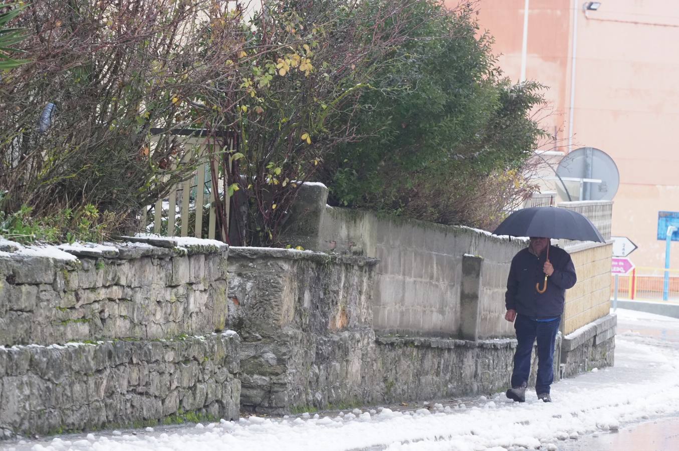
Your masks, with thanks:
M 375 259 L 232 247 L 229 261 L 229 327 L 243 340 L 246 410 L 286 414 L 507 389 L 515 340 L 376 335 Z

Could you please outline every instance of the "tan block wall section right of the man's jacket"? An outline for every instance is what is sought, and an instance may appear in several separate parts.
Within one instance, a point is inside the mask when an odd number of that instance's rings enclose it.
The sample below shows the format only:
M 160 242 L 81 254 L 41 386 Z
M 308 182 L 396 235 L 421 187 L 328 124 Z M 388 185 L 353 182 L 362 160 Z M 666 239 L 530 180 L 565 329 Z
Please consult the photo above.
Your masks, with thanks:
M 585 243 L 566 248 L 578 282 L 566 291 L 564 334 L 605 317 L 610 309 L 610 259 L 612 244 Z

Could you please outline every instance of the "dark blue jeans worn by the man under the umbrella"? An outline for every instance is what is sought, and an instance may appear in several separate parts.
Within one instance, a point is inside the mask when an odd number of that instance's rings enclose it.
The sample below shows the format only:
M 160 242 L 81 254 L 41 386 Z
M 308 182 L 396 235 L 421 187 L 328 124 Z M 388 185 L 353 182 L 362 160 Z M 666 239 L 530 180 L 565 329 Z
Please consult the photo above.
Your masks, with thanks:
M 530 376 L 530 354 L 533 344 L 538 342 L 538 377 L 535 391 L 549 393 L 549 386 L 554 381 L 554 343 L 559 331 L 561 319 L 554 321 L 535 321 L 522 314 L 517 314 L 514 321 L 516 339 L 519 344 L 514 353 L 514 371 L 511 375 L 511 386 L 528 384 Z

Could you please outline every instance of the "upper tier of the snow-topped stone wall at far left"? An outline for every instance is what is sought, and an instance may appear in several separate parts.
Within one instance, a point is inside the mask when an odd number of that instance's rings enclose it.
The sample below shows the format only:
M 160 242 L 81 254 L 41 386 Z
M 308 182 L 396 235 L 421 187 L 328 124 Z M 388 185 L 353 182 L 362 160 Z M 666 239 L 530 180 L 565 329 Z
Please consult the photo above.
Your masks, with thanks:
M 223 329 L 226 255 L 130 244 L 77 261 L 0 259 L 0 345 Z

